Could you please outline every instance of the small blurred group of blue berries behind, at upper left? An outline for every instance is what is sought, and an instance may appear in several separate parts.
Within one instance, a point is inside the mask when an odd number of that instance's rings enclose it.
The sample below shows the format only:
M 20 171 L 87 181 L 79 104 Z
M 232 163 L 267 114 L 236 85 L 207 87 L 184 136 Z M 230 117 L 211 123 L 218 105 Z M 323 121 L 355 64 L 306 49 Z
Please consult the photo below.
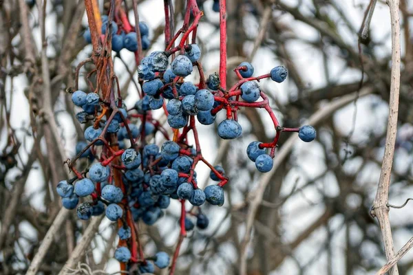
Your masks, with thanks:
M 107 16 L 102 17 L 102 34 L 106 34 L 109 21 Z M 142 43 L 142 50 L 148 50 L 151 45 L 149 40 L 149 28 L 146 23 L 139 22 L 140 41 Z M 118 29 L 116 22 L 112 21 L 112 50 L 120 52 L 122 49 L 126 49 L 129 52 L 136 52 L 138 50 L 138 36 L 136 32 L 125 33 L 123 30 Z M 87 43 L 92 43 L 92 37 L 89 28 L 83 33 L 83 38 Z

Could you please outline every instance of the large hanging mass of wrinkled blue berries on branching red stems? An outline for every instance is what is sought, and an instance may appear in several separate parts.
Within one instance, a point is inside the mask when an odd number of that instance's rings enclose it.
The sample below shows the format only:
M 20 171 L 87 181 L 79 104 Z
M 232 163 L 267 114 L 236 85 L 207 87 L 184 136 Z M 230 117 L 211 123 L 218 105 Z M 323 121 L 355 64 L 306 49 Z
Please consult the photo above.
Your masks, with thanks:
M 72 93 L 72 102 L 81 109 L 76 113 L 78 122 L 89 126 L 85 126 L 85 140 L 76 145 L 76 157 L 67 162 L 76 177 L 59 182 L 57 193 L 63 198 L 65 208 L 76 209 L 79 219 L 87 220 L 105 214 L 110 221 L 116 221 L 120 242 L 114 256 L 122 263 L 138 264 L 140 272 L 152 273 L 155 266 L 165 268 L 169 266 L 170 259 L 165 252 L 146 258 L 143 256 L 142 248 L 136 241 L 138 228 L 135 222 L 153 225 L 164 215 L 163 211 L 169 207 L 171 199 L 176 199 L 181 203 L 180 235 L 186 236 L 195 225 L 200 230 L 209 225 L 209 219 L 200 206 L 204 203 L 214 206 L 224 204 L 223 187 L 229 179 L 222 166 L 213 166 L 202 156 L 195 119 L 200 124 L 211 125 L 217 114 L 223 111 L 225 119 L 218 123 L 218 135 L 224 140 L 233 140 L 242 135 L 242 126 L 238 122 L 240 108 L 265 109 L 276 135 L 271 142 L 254 141 L 246 148 L 246 155 L 262 173 L 273 168 L 281 133 L 297 132 L 304 142 L 316 137 L 312 126 L 280 126 L 268 97 L 258 85 L 264 78 L 282 83 L 288 75 L 286 68 L 277 66 L 268 74 L 253 76 L 253 65 L 243 62 L 234 69 L 238 80 L 230 89 L 224 88 L 226 85 L 221 83 L 220 75 L 204 76 L 200 47 L 194 40 L 193 43 L 186 42 L 202 17 L 195 4 L 192 8 L 195 14 L 193 23 L 186 32 L 179 31 L 183 34 L 179 45 L 173 47 L 174 41 L 171 41 L 165 51 L 151 52 L 140 61 L 138 77 L 142 94 L 133 108 L 127 109 L 120 91 L 116 95 L 114 89 L 109 89 L 109 96 L 96 93 L 98 89 L 89 92 L 75 89 Z M 125 17 L 120 14 L 120 19 Z M 102 40 L 105 41 L 109 21 L 107 17 L 103 21 L 102 33 L 105 36 Z M 112 21 L 112 48 L 125 47 L 137 53 L 136 33 L 127 32 L 131 29 L 128 24 L 123 21 L 119 24 L 123 26 L 120 30 L 118 23 Z M 123 34 L 124 31 L 127 34 Z M 147 33 L 147 26 L 140 23 L 142 47 Z M 86 40 L 89 34 L 85 32 Z M 131 43 L 127 41 L 129 36 Z M 178 37 L 176 35 L 174 39 Z M 118 39 L 122 41 L 122 47 L 116 46 L 118 42 L 114 41 L 115 38 L 123 38 Z M 139 61 L 139 58 L 136 60 Z M 197 83 L 186 79 L 194 69 L 200 74 Z M 167 115 L 173 137 L 169 136 L 169 127 L 152 116 L 152 111 L 156 109 L 162 109 Z M 160 146 L 151 143 L 158 133 L 165 138 Z M 195 144 L 189 143 L 190 134 Z M 74 165 L 76 159 L 87 159 L 91 165 L 78 171 Z M 203 189 L 198 187 L 195 168 L 200 162 L 209 167 L 210 178 L 217 181 L 216 184 Z M 186 201 L 192 206 L 189 211 L 185 208 Z M 196 223 L 193 222 L 194 217 Z M 172 266 L 176 256 L 177 253 Z

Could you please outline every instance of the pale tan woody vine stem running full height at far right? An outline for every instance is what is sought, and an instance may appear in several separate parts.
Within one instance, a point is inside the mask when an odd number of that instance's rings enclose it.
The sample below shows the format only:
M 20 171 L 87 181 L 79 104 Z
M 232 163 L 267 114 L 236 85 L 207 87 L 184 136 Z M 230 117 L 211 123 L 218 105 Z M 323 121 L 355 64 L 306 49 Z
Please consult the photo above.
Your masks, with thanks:
M 383 163 L 377 188 L 376 197 L 373 202 L 371 214 L 379 221 L 381 236 L 383 237 L 385 256 L 388 261 L 394 258 L 394 244 L 392 228 L 390 226 L 388 199 L 390 189 L 390 176 L 394 157 L 394 145 L 397 134 L 397 116 L 399 114 L 399 89 L 400 89 L 400 16 L 399 0 L 388 0 L 390 8 L 390 20 L 392 23 L 392 72 L 390 83 L 389 118 L 388 129 L 385 137 L 385 148 Z M 390 275 L 399 275 L 397 265 L 389 271 Z

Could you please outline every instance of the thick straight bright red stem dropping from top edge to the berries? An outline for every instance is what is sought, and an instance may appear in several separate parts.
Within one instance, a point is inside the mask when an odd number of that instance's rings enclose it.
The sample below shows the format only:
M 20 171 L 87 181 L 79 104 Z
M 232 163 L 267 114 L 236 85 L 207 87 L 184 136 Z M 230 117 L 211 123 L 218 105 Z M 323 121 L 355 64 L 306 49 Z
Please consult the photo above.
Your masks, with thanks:
M 220 81 L 226 89 L 226 0 L 220 0 Z

